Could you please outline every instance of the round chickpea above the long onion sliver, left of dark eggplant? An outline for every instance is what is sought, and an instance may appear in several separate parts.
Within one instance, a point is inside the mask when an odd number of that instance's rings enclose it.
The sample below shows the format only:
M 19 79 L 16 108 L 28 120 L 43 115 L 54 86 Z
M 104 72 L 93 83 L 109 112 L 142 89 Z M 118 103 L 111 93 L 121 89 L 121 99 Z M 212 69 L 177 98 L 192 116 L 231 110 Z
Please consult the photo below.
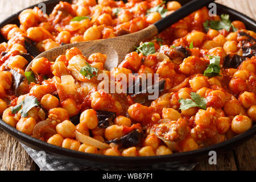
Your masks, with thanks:
M 98 126 L 98 117 L 96 111 L 88 109 L 82 112 L 80 116 L 80 123 L 85 125 L 88 129 L 93 130 Z

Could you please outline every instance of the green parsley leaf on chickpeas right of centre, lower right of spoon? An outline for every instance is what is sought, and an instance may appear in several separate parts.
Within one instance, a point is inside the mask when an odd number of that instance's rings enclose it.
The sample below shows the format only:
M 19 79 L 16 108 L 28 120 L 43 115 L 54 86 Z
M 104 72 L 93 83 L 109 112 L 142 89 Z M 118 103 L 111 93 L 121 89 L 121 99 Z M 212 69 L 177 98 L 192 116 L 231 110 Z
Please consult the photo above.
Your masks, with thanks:
M 200 107 L 201 109 L 206 110 L 207 100 L 204 97 L 201 97 L 195 92 L 191 92 L 190 97 L 191 99 L 187 98 L 186 100 L 184 100 L 183 98 L 181 98 L 179 100 L 181 110 L 187 110 L 191 107 Z

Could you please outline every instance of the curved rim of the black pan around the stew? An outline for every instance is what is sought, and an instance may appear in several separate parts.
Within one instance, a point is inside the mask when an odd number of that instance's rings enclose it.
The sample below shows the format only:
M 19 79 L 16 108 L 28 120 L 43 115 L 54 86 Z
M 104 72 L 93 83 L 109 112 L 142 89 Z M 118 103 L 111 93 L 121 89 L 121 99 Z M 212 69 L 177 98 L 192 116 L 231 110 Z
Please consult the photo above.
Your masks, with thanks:
M 46 5 L 49 5 L 53 2 L 59 2 L 60 0 L 49 0 L 44 3 Z M 251 25 L 254 26 L 254 30 L 256 30 L 256 21 L 249 18 L 248 16 L 230 9 L 229 7 L 226 7 L 224 5 L 220 5 L 218 3 L 217 7 L 220 7 L 221 9 L 225 9 L 226 11 L 231 12 L 232 14 L 239 16 L 243 19 L 246 19 L 247 22 L 249 22 Z M 38 6 L 38 4 L 27 7 L 28 8 L 33 8 L 35 6 Z M 5 26 L 8 22 L 11 20 L 14 20 L 18 17 L 18 15 L 22 12 L 23 10 L 19 11 L 18 13 L 15 13 L 9 18 L 6 18 L 0 23 L 0 27 Z M 24 143 L 31 148 L 34 148 L 36 150 L 42 149 L 43 151 L 48 152 L 49 154 L 53 154 L 56 156 L 60 156 L 62 158 L 69 158 L 69 159 L 75 159 L 77 162 L 79 160 L 87 160 L 87 161 L 92 161 L 96 163 L 105 163 L 109 165 L 131 165 L 131 166 L 136 166 L 136 164 L 139 164 L 141 166 L 148 166 L 151 164 L 156 164 L 156 163 L 164 163 L 164 162 L 177 162 L 177 161 L 189 161 L 189 160 L 195 160 L 195 158 L 199 158 L 205 155 L 208 155 L 209 151 L 226 151 L 230 150 L 230 147 L 237 146 L 238 144 L 244 142 L 245 140 L 249 139 L 250 137 L 253 137 L 256 134 L 256 126 L 252 127 L 250 130 L 247 130 L 245 133 L 242 133 L 240 135 L 237 135 L 236 137 L 226 140 L 224 142 L 214 144 L 209 147 L 204 147 L 200 148 L 199 150 L 193 150 L 193 151 L 188 151 L 188 152 L 180 152 L 180 153 L 175 153 L 171 155 L 162 155 L 162 156 L 137 156 L 137 157 L 125 157 L 125 156 L 106 156 L 106 155 L 97 155 L 97 154 L 88 154 L 84 152 L 79 152 L 79 151 L 74 151 L 74 150 L 69 150 L 67 148 L 63 147 L 57 147 L 52 144 L 49 144 L 47 142 L 43 142 L 42 140 L 30 137 L 29 135 L 26 135 L 22 133 L 21 131 L 16 130 L 14 127 L 11 127 L 2 119 L 0 119 L 0 128 L 4 131 L 6 131 L 8 134 L 12 135 L 16 139 L 19 140 L 19 142 Z

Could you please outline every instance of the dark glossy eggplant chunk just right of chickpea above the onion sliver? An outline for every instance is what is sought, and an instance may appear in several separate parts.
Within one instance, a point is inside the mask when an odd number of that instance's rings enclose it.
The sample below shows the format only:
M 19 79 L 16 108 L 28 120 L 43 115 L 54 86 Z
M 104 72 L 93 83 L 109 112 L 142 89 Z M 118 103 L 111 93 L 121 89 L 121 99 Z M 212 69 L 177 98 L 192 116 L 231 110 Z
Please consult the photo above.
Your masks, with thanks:
M 97 110 L 96 113 L 98 117 L 98 127 L 109 127 L 110 123 L 113 123 L 116 117 L 115 113 L 105 110 Z

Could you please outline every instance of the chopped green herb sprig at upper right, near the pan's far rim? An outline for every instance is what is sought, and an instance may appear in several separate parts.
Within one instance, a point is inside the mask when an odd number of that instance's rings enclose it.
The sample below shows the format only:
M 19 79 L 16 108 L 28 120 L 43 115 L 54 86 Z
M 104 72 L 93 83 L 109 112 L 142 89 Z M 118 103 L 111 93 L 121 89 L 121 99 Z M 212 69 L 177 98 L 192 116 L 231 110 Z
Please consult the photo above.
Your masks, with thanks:
M 214 30 L 222 30 L 225 29 L 226 31 L 230 31 L 230 27 L 232 27 L 233 31 L 236 32 L 237 28 L 233 26 L 231 23 L 231 20 L 229 19 L 229 15 L 221 15 L 221 21 L 206 21 L 204 22 L 204 28 L 205 30 L 209 30 L 209 28 L 212 28 Z

